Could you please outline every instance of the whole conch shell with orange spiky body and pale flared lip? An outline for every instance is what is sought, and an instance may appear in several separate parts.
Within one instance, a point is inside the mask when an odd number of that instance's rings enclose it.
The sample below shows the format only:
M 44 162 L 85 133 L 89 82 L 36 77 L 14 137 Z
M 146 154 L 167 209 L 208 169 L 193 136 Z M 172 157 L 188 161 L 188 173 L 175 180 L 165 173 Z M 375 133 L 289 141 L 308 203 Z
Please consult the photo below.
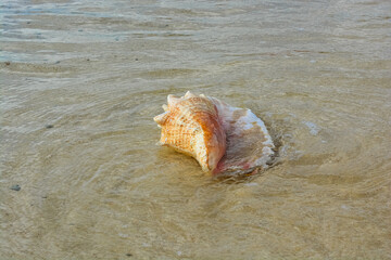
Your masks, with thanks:
M 165 113 L 153 119 L 162 128 L 160 144 L 194 157 L 214 174 L 267 168 L 274 152 L 264 122 L 250 109 L 215 98 L 168 95 Z

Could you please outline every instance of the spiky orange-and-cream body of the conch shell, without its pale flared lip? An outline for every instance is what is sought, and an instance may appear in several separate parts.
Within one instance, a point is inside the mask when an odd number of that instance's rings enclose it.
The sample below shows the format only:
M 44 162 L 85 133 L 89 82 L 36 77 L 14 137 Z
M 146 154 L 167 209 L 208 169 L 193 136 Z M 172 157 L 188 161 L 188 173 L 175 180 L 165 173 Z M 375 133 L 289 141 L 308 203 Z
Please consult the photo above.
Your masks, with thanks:
M 212 172 L 226 152 L 226 133 L 216 106 L 203 95 L 168 95 L 164 114 L 154 117 L 162 128 L 160 143 L 194 157 Z

